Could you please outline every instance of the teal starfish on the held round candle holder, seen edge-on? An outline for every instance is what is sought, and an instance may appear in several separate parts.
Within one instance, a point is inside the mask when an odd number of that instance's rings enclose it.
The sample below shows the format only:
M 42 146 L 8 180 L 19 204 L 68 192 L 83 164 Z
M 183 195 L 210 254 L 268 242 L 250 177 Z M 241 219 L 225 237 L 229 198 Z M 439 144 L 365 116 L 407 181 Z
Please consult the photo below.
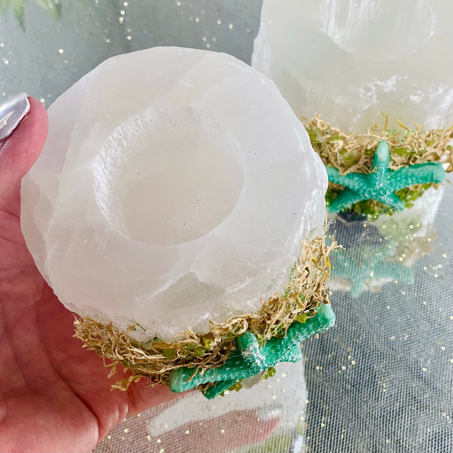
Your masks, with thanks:
M 209 368 L 204 373 L 193 368 L 178 368 L 170 373 L 170 390 L 175 393 L 193 389 L 196 386 L 215 382 L 204 395 L 212 399 L 231 387 L 236 381 L 254 376 L 280 362 L 297 362 L 302 356 L 299 343 L 321 333 L 335 324 L 335 315 L 328 304 L 321 304 L 313 318 L 304 323 L 294 321 L 283 338 L 273 337 L 264 346 L 258 344 L 255 335 L 246 331 L 236 339 L 237 349 L 218 368 Z M 191 377 L 192 376 L 192 377 Z

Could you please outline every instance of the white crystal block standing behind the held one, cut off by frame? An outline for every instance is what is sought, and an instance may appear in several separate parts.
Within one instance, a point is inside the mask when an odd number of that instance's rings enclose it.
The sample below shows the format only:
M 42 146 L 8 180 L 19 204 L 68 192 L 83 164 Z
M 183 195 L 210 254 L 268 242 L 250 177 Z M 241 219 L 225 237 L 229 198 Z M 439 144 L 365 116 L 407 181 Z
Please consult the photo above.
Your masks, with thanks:
M 453 2 L 264 0 L 252 66 L 345 131 L 453 122 Z M 390 127 L 396 127 L 392 122 Z

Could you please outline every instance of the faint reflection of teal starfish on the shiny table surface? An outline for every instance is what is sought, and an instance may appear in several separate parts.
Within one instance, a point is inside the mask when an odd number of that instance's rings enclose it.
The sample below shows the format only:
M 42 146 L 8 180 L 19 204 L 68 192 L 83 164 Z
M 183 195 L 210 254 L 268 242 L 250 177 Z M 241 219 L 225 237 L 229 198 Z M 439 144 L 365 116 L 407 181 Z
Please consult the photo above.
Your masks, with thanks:
M 400 263 L 391 263 L 387 257 L 395 255 L 396 243 L 379 248 L 359 247 L 358 250 L 336 250 L 331 256 L 332 277 L 345 279 L 351 283 L 351 296 L 360 296 L 366 280 L 392 278 L 403 283 L 413 284 L 414 273 Z

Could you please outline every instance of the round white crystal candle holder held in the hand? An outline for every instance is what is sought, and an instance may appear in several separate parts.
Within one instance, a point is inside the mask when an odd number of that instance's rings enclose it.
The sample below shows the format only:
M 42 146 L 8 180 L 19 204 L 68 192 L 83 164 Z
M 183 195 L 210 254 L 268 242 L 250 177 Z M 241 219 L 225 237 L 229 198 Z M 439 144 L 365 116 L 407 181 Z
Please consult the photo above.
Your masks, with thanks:
M 22 231 L 67 308 L 172 339 L 260 308 L 323 225 L 327 175 L 275 85 L 236 58 L 110 58 L 49 108 Z

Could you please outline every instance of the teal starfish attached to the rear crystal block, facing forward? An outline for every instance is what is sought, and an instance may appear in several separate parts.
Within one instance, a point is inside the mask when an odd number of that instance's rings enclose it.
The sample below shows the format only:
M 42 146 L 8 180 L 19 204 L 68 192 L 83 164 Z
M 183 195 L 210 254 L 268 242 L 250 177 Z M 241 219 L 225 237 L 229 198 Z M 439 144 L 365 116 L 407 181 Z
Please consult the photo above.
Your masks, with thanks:
M 379 143 L 373 158 L 373 171 L 370 174 L 349 173 L 341 175 L 334 167 L 326 167 L 329 181 L 346 188 L 338 193 L 328 206 L 329 212 L 340 212 L 362 200 L 377 200 L 402 211 L 405 202 L 396 195 L 400 190 L 414 184 L 443 183 L 445 171 L 442 164 L 425 162 L 413 164 L 398 170 L 388 168 L 390 161 L 389 147 L 386 141 Z

